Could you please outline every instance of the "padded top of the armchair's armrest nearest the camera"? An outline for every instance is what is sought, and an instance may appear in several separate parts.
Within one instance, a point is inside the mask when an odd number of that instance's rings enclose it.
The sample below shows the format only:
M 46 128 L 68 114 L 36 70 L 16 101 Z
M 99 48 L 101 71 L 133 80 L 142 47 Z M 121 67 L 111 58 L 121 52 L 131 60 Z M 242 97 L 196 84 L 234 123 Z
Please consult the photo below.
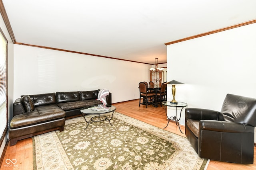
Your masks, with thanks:
M 254 133 L 254 127 L 241 123 L 216 121 L 216 120 L 200 120 L 199 134 L 202 130 L 228 132 L 228 133 Z

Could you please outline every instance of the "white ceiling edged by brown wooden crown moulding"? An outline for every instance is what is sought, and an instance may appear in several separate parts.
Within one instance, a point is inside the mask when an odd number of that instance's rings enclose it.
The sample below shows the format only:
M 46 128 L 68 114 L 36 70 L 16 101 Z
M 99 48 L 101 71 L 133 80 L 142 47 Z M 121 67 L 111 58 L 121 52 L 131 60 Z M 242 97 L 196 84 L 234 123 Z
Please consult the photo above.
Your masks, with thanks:
M 18 43 L 152 64 L 164 43 L 256 19 L 256 0 L 2 2 Z

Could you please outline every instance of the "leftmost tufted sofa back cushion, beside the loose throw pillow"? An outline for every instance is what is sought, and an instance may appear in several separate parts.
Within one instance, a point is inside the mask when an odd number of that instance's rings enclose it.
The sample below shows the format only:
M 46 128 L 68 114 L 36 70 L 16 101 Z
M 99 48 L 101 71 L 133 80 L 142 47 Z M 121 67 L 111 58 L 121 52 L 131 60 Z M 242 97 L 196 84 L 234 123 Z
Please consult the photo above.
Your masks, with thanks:
M 33 100 L 35 106 L 56 104 L 55 93 L 34 94 L 34 95 L 29 95 L 29 96 Z

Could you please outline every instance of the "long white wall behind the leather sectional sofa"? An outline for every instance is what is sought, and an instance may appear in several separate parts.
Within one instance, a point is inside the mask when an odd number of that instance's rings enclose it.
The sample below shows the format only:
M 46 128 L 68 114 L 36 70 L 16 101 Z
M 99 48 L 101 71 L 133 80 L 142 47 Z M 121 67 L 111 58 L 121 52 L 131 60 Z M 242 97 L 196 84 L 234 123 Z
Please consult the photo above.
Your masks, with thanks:
M 25 94 L 106 88 L 112 103 L 139 98 L 150 64 L 14 45 L 14 98 Z

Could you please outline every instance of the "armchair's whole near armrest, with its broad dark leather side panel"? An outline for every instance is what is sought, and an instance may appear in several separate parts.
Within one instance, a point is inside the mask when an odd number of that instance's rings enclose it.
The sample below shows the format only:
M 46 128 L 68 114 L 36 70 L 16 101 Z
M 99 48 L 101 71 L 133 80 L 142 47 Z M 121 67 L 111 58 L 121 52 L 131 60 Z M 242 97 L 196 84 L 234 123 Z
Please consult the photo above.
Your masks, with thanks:
M 198 156 L 201 158 L 240 164 L 253 163 L 253 126 L 200 120 L 198 130 Z

